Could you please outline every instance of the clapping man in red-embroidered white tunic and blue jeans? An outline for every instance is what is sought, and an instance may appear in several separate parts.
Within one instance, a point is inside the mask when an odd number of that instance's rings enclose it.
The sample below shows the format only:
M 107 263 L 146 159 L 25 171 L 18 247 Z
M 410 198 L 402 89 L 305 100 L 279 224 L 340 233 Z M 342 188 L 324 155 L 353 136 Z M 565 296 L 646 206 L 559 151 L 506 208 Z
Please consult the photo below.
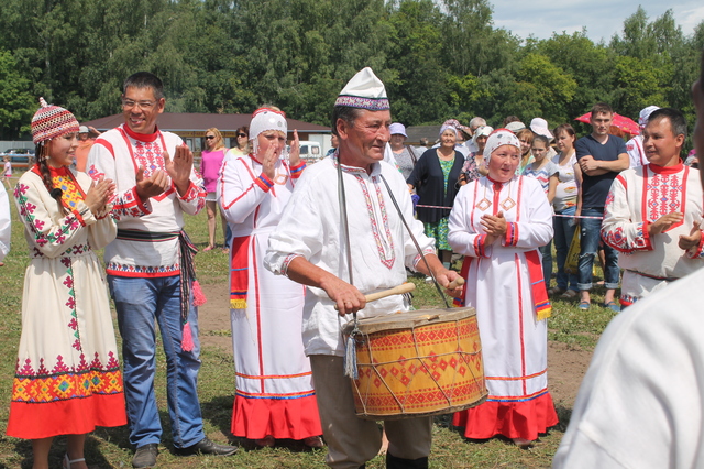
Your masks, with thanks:
M 193 153 L 178 135 L 158 130 L 162 80 L 140 72 L 123 86 L 124 124 L 103 133 L 88 155 L 88 174 L 117 184 L 112 215 L 118 238 L 106 248 L 110 293 L 122 336 L 124 389 L 135 468 L 156 463 L 162 425 L 154 395 L 156 328 L 166 353 L 168 413 L 177 454 L 231 455 L 202 429 L 196 389 L 200 360 L 198 310 L 191 305 L 184 214 L 205 205 Z M 183 299 L 185 298 L 185 299 Z

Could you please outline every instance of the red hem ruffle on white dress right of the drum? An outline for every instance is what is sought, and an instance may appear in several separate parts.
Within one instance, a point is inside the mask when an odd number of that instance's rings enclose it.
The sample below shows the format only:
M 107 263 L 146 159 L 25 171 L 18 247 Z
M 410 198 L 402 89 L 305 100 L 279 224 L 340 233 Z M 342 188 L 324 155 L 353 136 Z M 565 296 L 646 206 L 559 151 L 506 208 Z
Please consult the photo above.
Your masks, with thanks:
M 486 401 L 476 407 L 457 412 L 452 425 L 464 428 L 471 439 L 487 439 L 495 435 L 507 438 L 538 439 L 538 434 L 558 424 L 549 392 L 521 402 Z

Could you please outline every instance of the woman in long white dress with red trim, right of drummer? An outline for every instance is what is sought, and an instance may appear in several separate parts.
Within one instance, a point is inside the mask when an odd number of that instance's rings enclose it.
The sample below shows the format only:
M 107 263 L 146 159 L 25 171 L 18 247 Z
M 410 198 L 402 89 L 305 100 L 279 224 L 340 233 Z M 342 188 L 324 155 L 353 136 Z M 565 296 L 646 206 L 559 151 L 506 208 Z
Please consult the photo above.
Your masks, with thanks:
M 476 309 L 485 403 L 454 414 L 473 439 L 503 435 L 526 447 L 558 423 L 548 392 L 550 303 L 538 248 L 552 238 L 552 210 L 540 183 L 517 176 L 520 142 L 501 129 L 484 154 L 488 175 L 460 189 L 448 241 L 465 255 L 464 305 Z

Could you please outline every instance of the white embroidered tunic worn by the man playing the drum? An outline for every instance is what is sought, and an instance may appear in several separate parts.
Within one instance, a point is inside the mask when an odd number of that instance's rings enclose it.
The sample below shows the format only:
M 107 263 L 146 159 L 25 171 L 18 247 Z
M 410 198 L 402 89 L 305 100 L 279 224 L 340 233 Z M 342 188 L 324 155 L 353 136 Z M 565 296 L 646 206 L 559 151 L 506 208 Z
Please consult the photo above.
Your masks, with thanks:
M 346 241 L 342 232 L 338 201 L 337 153 L 311 165 L 301 176 L 289 207 L 270 237 L 264 265 L 286 273 L 297 255 L 349 281 Z M 359 167 L 342 166 L 350 227 L 353 284 L 369 294 L 398 286 L 406 281 L 406 266 L 420 260 L 408 232 L 381 179 L 388 182 L 406 221 L 420 248 L 433 253 L 435 240 L 424 234 L 414 218 L 408 186 L 398 170 L 385 162 L 372 165 L 372 174 Z M 373 317 L 406 310 L 403 297 L 393 295 L 366 305 L 358 317 Z M 306 288 L 304 343 L 307 355 L 344 355 L 341 328 L 351 315 L 341 318 L 328 294 Z

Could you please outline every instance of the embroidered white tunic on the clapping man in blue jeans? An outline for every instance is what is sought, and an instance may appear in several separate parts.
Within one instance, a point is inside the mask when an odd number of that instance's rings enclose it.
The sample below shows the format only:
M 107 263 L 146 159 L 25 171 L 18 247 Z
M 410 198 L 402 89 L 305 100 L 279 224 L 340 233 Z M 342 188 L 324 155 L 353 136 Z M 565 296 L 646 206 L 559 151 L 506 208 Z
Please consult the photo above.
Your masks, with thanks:
M 178 275 L 179 248 L 176 234 L 184 227 L 184 212 L 196 215 L 206 205 L 202 179 L 193 171 L 190 187 L 184 197 L 172 187 L 160 196 L 143 201 L 136 194 L 136 173 L 144 166 L 144 177 L 156 170 L 164 171 L 162 153 L 173 157 L 180 137 L 162 132 L 153 134 L 132 132 L 122 124 L 100 135 L 88 154 L 88 174 L 100 175 L 117 184 L 112 215 L 121 230 L 175 233 L 173 238 L 150 242 L 123 239 L 120 234 L 106 248 L 107 271 L 111 275 L 156 277 Z

